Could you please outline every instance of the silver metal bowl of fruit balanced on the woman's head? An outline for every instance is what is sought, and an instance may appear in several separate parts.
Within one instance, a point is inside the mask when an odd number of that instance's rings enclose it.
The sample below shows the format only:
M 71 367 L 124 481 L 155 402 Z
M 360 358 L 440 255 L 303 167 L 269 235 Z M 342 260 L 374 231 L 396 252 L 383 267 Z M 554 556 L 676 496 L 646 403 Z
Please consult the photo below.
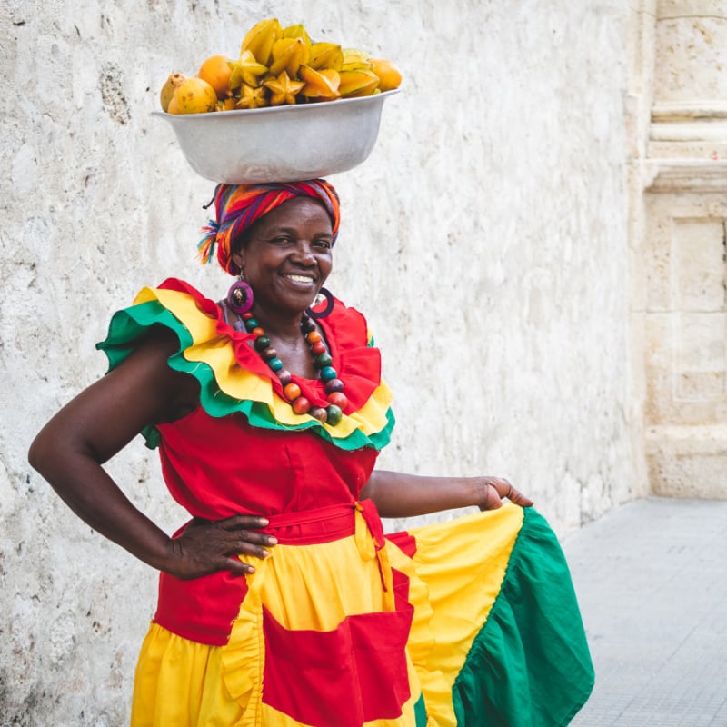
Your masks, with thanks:
M 297 182 L 364 162 L 379 134 L 383 102 L 398 92 L 209 114 L 152 114 L 172 124 L 187 162 L 205 179 Z

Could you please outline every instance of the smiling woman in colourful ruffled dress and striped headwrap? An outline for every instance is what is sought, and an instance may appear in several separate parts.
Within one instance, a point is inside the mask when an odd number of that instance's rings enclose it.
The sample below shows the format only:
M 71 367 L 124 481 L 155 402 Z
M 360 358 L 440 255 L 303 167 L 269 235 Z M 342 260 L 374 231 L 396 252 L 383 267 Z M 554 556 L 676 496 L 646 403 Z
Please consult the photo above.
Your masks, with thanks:
M 531 501 L 501 478 L 373 469 L 391 396 L 364 317 L 323 288 L 333 186 L 221 184 L 214 204 L 201 254 L 239 276 L 227 298 L 144 289 L 99 344 L 111 371 L 30 451 L 75 513 L 161 572 L 132 723 L 567 723 L 593 673 Z M 193 516 L 173 537 L 102 467 L 137 433 Z M 490 512 L 383 536 L 380 515 L 472 505 Z

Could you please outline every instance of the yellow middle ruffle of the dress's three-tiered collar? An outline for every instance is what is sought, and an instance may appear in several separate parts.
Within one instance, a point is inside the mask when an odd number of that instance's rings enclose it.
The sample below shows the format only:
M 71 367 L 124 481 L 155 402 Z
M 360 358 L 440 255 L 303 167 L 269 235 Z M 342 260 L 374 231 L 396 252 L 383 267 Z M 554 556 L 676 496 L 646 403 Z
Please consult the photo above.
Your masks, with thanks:
M 154 300 L 174 314 L 192 336 L 194 344 L 184 350 L 184 358 L 192 363 L 207 364 L 223 393 L 239 401 L 266 404 L 275 420 L 288 426 L 314 421 L 308 414 L 294 413 L 290 403 L 274 393 L 268 379 L 245 371 L 237 364 L 229 340 L 217 334 L 214 320 L 197 308 L 192 296 L 162 288 L 143 288 L 134 304 Z M 335 439 L 344 439 L 356 429 L 367 436 L 381 432 L 388 424 L 386 413 L 392 400 L 391 390 L 382 382 L 361 409 L 344 414 L 335 426 L 324 423 L 325 430 Z

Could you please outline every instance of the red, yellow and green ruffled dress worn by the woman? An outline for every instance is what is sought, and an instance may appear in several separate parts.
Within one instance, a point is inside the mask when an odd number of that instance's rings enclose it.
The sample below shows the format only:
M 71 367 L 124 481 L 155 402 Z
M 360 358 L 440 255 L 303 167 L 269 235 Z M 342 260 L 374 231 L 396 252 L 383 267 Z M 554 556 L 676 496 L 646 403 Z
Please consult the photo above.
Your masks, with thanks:
M 151 326 L 177 334 L 169 365 L 201 393 L 144 431 L 164 482 L 193 517 L 264 514 L 278 539 L 240 556 L 250 576 L 161 575 L 133 725 L 567 723 L 593 672 L 553 533 L 507 505 L 384 537 L 358 500 L 393 428 L 379 352 L 340 301 L 320 323 L 349 401 L 336 426 L 293 413 L 254 336 L 181 281 L 144 289 L 99 344 L 113 367 Z

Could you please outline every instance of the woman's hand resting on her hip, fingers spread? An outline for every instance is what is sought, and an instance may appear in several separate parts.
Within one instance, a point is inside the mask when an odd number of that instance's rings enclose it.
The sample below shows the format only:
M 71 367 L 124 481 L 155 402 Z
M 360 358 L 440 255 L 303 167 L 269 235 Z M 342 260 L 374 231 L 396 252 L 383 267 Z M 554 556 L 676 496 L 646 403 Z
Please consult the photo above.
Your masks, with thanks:
M 184 532 L 169 541 L 170 563 L 163 570 L 176 578 L 200 578 L 215 571 L 237 575 L 254 573 L 254 566 L 243 563 L 238 555 L 267 558 L 277 543 L 272 535 L 260 533 L 268 521 L 256 515 L 235 515 L 216 522 L 195 518 Z

